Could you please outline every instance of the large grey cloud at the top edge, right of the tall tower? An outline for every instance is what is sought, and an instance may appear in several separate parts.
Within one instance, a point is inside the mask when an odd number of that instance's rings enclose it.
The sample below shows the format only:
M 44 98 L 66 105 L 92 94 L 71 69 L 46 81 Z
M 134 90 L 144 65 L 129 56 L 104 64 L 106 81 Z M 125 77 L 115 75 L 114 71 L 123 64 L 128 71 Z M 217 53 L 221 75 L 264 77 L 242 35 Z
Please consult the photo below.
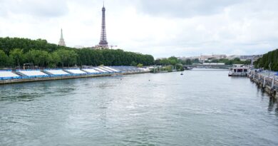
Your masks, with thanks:
M 145 14 L 192 17 L 220 13 L 226 6 L 244 0 L 141 0 L 138 6 Z

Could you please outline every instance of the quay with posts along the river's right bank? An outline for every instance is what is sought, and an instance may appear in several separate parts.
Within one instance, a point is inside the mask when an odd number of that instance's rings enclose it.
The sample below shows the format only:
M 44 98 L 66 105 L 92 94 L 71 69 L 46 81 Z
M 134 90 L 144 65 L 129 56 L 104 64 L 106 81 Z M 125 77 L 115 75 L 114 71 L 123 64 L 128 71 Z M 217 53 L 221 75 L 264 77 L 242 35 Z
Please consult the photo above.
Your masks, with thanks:
M 278 78 L 277 75 L 269 75 L 264 72 L 251 71 L 247 77 L 252 82 L 257 83 L 260 88 L 263 88 L 271 97 L 278 99 Z

